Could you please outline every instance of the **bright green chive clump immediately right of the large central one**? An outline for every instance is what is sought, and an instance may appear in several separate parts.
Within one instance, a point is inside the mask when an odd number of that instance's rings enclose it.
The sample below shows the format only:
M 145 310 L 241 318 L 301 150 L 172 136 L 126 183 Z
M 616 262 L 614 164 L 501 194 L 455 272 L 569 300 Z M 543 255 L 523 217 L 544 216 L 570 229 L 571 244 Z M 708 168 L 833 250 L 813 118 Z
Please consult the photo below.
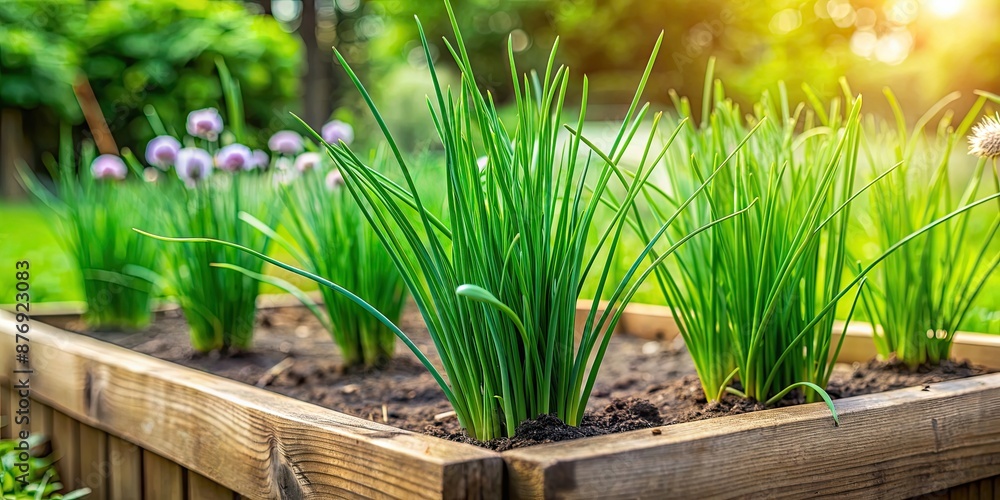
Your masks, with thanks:
M 827 108 L 807 88 L 811 109 L 792 107 L 779 85 L 777 98 L 765 93 L 744 120 L 739 107 L 725 99 L 722 85 L 712 85 L 711 74 L 710 66 L 702 122 L 695 126 L 689 119 L 682 147 L 669 160 L 686 168 L 665 188 L 648 189 L 647 196 L 654 207 L 657 201 L 669 206 L 708 174 L 704 159 L 732 154 L 737 141 L 754 131 L 733 168 L 685 213 L 677 229 L 697 227 L 734 207 L 749 208 L 677 252 L 680 272 L 657 268 L 657 283 L 708 399 L 730 393 L 770 405 L 799 389 L 807 400 L 822 398 L 833 410 L 824 388 L 841 347 L 832 344 L 838 302 L 854 293 L 849 322 L 865 276 L 886 256 L 988 199 L 930 221 L 894 241 L 864 269 L 845 274 L 854 268 L 847 252 L 851 206 L 881 179 L 856 187 L 861 98 L 853 98 L 845 84 L 845 100 L 835 99 Z M 690 103 L 674 99 L 680 115 L 690 118 Z M 641 224 L 639 230 L 644 232 Z

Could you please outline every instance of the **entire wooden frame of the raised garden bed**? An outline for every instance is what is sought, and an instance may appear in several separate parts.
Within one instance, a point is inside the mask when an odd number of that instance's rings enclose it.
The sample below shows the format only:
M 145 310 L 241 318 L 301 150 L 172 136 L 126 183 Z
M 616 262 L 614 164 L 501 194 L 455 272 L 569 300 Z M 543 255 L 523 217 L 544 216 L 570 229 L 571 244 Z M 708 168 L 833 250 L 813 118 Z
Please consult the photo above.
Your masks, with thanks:
M 629 306 L 620 327 L 676 335 L 656 306 Z M 14 335 L 0 312 L 6 418 L 17 405 Z M 873 357 L 870 327 L 846 335 L 841 361 Z M 53 436 L 64 482 L 95 499 L 1000 494 L 1000 373 L 838 400 L 840 427 L 813 404 L 494 453 L 39 321 L 29 338 L 31 428 Z M 1000 336 L 960 334 L 954 355 L 1000 369 Z

